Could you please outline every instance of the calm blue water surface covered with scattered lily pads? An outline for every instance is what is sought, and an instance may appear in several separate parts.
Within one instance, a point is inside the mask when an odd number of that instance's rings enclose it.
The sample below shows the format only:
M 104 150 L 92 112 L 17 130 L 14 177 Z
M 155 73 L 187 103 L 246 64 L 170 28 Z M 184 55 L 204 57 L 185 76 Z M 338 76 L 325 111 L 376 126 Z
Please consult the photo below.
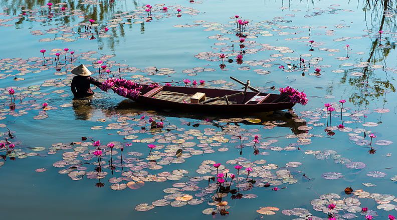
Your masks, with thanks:
M 397 215 L 395 1 L 70 0 L 52 1 L 51 14 L 48 1 L 0 2 L 0 130 L 3 141 L 16 144 L 15 152 L 0 160 L 5 219 L 327 219 L 329 203 L 336 203 L 338 219 Z M 145 4 L 153 5 L 150 22 Z M 162 11 L 164 5 L 168 11 Z M 181 8 L 180 17 L 176 8 Z M 235 59 L 240 52 L 235 14 L 249 20 L 243 32 L 244 62 L 225 60 L 221 69 L 219 53 Z M 91 18 L 96 22 L 90 33 L 84 29 Z M 309 40 L 314 40 L 314 50 Z M 64 60 L 66 47 L 75 52 L 72 61 L 70 54 Z M 46 62 L 40 49 L 47 50 Z M 56 52 L 61 53 L 57 66 Z M 306 67 L 299 67 L 299 58 Z M 278 91 L 270 87 L 289 85 L 304 90 L 309 103 L 296 105 L 293 118 L 241 112 L 240 118 L 230 119 L 209 112 L 152 111 L 98 88 L 94 97 L 74 101 L 70 70 L 84 63 L 104 79 L 97 60 L 104 60 L 111 75 L 117 76 L 120 68 L 122 77 L 143 83 L 173 80 L 178 85 L 189 78 L 204 79 L 208 87 L 240 89 L 229 78 L 233 75 L 274 93 Z M 290 70 L 288 63 L 298 67 Z M 321 74 L 315 73 L 316 67 Z M 16 90 L 16 109 L 10 109 L 10 87 Z M 342 110 L 345 129 L 337 128 L 342 123 L 340 99 L 347 100 Z M 46 110 L 44 102 L 50 106 Z M 336 108 L 332 122 L 324 103 Z M 164 128 L 141 129 L 142 115 L 162 119 Z M 372 146 L 370 133 L 377 136 Z M 255 135 L 259 155 L 253 153 Z M 106 152 L 99 174 L 90 139 L 100 140 Z M 116 145 L 113 173 L 106 147 L 111 141 Z M 157 145 L 154 157 L 146 157 L 150 143 Z M 181 157 L 175 156 L 178 148 L 183 149 Z M 232 199 L 228 193 L 223 198 L 227 204 L 214 201 L 215 183 L 208 187 L 208 177 L 217 172 L 214 162 L 235 174 L 237 163 L 244 166 L 240 184 L 236 179 L 232 184 L 242 198 Z M 225 170 L 223 165 L 220 170 Z M 255 183 L 246 180 L 249 166 L 254 170 L 248 180 Z M 268 182 L 271 186 L 264 187 Z M 279 190 L 272 190 L 276 186 Z M 346 195 L 345 187 L 357 191 Z M 327 193 L 335 194 L 321 196 Z M 192 198 L 181 198 L 184 194 Z M 165 206 L 136 210 L 164 196 Z M 320 204 L 312 201 L 319 198 Z M 256 211 L 268 206 L 279 210 L 269 215 Z M 361 212 L 361 207 L 369 210 Z M 229 214 L 221 215 L 221 209 Z

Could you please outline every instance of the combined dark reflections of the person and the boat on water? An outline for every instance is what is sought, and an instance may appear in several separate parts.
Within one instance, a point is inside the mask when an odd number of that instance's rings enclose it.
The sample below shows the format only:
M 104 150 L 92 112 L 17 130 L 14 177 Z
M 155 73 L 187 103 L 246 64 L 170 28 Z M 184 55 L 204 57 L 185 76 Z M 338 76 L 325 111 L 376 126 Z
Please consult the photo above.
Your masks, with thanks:
M 73 110 L 75 112 L 75 117 L 78 120 L 88 120 L 94 115 L 94 111 L 100 110 L 103 112 L 106 117 L 112 116 L 120 116 L 120 115 L 136 115 L 136 114 L 145 114 L 149 113 L 152 115 L 159 115 L 164 117 L 176 117 L 176 118 L 190 118 L 193 120 L 220 120 L 220 119 L 229 119 L 229 118 L 258 118 L 261 120 L 260 123 L 264 125 L 276 124 L 279 127 L 289 127 L 294 134 L 304 133 L 306 131 L 299 130 L 298 127 L 302 125 L 306 125 L 305 121 L 297 122 L 297 115 L 293 110 L 290 111 L 274 111 L 274 112 L 263 112 L 263 113 L 254 113 L 248 115 L 236 115 L 236 114 L 204 114 L 204 113 L 189 113 L 189 112 L 177 112 L 177 111 L 164 111 L 159 109 L 152 109 L 148 106 L 139 104 L 129 99 L 122 100 L 117 104 L 109 104 L 109 102 L 104 101 L 103 99 L 95 99 L 95 98 L 86 98 L 86 99 L 75 99 L 73 100 Z M 236 123 L 239 125 L 252 125 L 258 123 L 249 122 L 247 120 L 237 120 L 239 122 L 228 122 L 228 123 Z M 198 121 L 197 121 L 198 122 Z M 228 124 L 227 123 L 227 124 Z M 192 124 L 194 124 L 192 122 Z M 218 123 L 214 123 L 216 126 L 222 127 Z

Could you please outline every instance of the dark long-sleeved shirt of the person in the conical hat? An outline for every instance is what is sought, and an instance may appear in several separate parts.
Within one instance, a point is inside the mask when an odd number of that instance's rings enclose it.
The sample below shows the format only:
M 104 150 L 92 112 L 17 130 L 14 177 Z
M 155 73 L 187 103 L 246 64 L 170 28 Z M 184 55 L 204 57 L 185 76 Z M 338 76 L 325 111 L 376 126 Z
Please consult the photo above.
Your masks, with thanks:
M 90 84 L 101 86 L 102 83 L 91 76 L 76 75 L 72 79 L 70 89 L 75 97 L 87 97 L 93 95 L 94 92 L 90 88 Z

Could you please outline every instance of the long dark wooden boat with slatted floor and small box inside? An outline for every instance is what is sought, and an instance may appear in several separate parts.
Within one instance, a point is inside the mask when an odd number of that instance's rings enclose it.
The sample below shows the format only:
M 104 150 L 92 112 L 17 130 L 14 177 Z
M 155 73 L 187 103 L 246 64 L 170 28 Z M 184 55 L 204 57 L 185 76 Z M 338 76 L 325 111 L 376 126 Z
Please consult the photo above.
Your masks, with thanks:
M 135 101 L 161 109 L 241 114 L 291 109 L 295 105 L 288 96 L 260 92 L 251 87 L 249 81 L 239 82 L 246 85 L 245 91 L 182 86 L 150 88 L 142 85 L 143 94 Z M 256 91 L 247 91 L 247 88 Z

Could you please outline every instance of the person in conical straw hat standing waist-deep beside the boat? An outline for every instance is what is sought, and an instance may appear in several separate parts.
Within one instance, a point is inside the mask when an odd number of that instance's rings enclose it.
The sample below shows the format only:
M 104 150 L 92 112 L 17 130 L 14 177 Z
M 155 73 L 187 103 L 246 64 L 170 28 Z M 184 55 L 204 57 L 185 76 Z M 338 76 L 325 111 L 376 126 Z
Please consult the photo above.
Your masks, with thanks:
M 76 76 L 72 79 L 70 89 L 72 90 L 75 98 L 83 98 L 93 95 L 94 92 L 91 90 L 90 84 L 98 87 L 102 85 L 101 82 L 90 76 L 92 73 L 84 64 L 74 68 L 72 73 Z

